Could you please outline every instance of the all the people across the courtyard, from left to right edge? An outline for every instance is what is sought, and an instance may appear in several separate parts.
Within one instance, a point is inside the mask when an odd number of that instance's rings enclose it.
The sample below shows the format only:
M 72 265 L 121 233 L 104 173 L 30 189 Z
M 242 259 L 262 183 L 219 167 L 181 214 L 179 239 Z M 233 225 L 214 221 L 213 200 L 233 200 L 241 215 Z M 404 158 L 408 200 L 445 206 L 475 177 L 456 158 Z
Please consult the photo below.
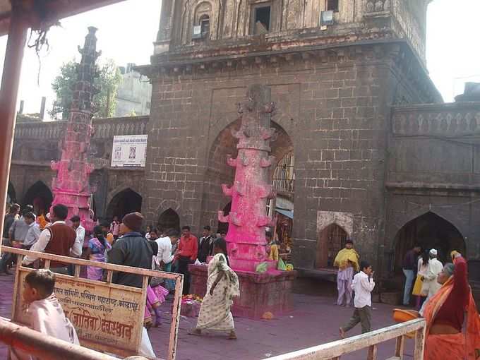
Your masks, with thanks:
M 183 294 L 188 294 L 190 274 L 188 265 L 208 262 L 207 294 L 203 299 L 198 322 L 189 334 L 202 335 L 203 330 L 219 330 L 228 333 L 228 339 L 236 339 L 234 320 L 230 308 L 235 296 L 239 296 L 239 280 L 229 266 L 226 234 L 212 235 L 209 226 L 197 238 L 188 226 L 177 229 L 148 227 L 143 232 L 144 219 L 139 212 L 132 212 L 120 221 L 115 217 L 111 223 L 97 224 L 93 229 L 88 246 L 85 244 L 85 229 L 80 217 L 71 217 L 67 224 L 68 208 L 54 205 L 52 211 L 41 217 L 33 213 L 30 205 L 21 210 L 11 205 L 4 218 L 3 243 L 16 248 L 52 253 L 79 258 L 83 256 L 99 263 L 112 263 L 136 268 L 178 272 L 184 275 Z M 278 244 L 267 234 L 270 259 L 278 259 Z M 422 251 L 414 246 L 406 253 L 402 262 L 405 276 L 402 301 L 410 306 L 411 296 L 416 296 L 414 306 L 427 323 L 426 359 L 477 359 L 480 352 L 480 319 L 468 284 L 467 261 L 457 251 L 452 251 L 452 263 L 443 265 L 437 258 L 435 248 Z M 8 273 L 13 257 L 4 253 L 0 260 L 0 272 Z M 32 266 L 35 256 L 25 256 L 23 265 Z M 340 327 L 340 336 L 361 323 L 361 332 L 371 331 L 371 293 L 376 283 L 371 265 L 362 260 L 354 249 L 352 239 L 337 253 L 334 266 L 338 268 L 336 304 L 351 306 L 352 318 Z M 42 264 L 37 264 L 42 268 Z M 73 275 L 73 268 L 66 263 L 52 261 L 49 270 L 37 270 L 29 275 L 24 284 L 24 299 L 29 311 L 41 308 L 44 314 L 62 324 L 56 330 L 41 325 L 45 333 L 77 343 L 73 327 L 65 318 L 61 306 L 52 293 L 54 273 Z M 105 280 L 102 268 L 88 266 L 87 277 Z M 131 287 L 143 287 L 143 277 L 127 272 L 114 272 L 112 282 Z M 217 290 L 220 289 L 220 290 Z M 167 294 L 174 291 L 172 280 L 153 278 L 147 289 L 147 304 L 143 320 L 145 328 L 161 324 L 160 305 Z M 35 328 L 35 326 L 34 326 Z M 49 330 L 50 329 L 50 330 Z M 63 332 L 59 333 L 59 329 Z M 72 330 L 73 329 L 73 330 Z M 154 355 L 148 335 L 142 340 L 143 354 Z M 18 355 L 21 359 L 21 355 Z

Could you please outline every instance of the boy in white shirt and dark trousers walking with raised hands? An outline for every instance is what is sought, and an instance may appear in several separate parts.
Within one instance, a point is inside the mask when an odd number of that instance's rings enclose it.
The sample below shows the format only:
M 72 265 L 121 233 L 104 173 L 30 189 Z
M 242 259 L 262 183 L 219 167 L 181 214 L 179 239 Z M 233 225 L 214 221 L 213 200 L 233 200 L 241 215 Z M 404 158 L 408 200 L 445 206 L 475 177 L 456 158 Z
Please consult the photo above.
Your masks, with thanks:
M 355 292 L 354 314 L 347 325 L 340 328 L 340 337 L 342 337 L 342 339 L 345 337 L 345 332 L 354 328 L 358 323 L 361 323 L 362 334 L 369 332 L 371 329 L 371 292 L 375 287 L 373 271 L 371 265 L 366 261 L 360 262 L 360 270 L 361 271 L 354 276 L 354 281 L 352 282 L 352 289 L 354 289 Z

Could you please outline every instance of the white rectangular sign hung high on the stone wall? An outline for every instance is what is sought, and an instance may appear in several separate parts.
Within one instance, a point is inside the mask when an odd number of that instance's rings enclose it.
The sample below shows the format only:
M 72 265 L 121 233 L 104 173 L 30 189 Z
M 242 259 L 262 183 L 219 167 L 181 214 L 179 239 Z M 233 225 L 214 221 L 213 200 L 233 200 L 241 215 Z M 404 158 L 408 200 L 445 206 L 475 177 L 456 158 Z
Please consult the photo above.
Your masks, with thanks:
M 112 167 L 145 167 L 148 135 L 114 136 Z

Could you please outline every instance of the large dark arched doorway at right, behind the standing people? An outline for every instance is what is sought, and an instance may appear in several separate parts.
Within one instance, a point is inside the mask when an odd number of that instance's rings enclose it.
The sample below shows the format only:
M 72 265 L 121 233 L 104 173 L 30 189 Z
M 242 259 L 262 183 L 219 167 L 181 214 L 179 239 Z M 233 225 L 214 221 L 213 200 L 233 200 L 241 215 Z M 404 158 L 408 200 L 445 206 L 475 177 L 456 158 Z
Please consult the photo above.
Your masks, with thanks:
M 433 212 L 426 212 L 404 224 L 395 236 L 394 244 L 396 274 L 402 272 L 402 260 L 405 253 L 416 244 L 425 251 L 435 248 L 438 251 L 438 260 L 442 263 L 450 261 L 450 251 L 458 250 L 461 253 L 465 251 L 464 237 L 455 225 Z

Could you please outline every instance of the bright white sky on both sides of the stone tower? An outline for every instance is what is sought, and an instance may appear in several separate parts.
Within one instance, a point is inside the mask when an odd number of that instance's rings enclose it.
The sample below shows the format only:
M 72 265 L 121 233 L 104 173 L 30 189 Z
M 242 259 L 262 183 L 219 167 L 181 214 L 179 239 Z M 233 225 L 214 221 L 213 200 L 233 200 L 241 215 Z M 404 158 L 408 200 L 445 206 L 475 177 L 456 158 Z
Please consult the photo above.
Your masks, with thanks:
M 80 60 L 77 46 L 83 45 L 88 26 L 99 29 L 100 63 L 114 59 L 119 66 L 149 64 L 160 6 L 161 0 L 126 0 L 61 20 L 61 27 L 48 33 L 49 51 L 41 53 L 40 85 L 37 54 L 25 50 L 18 96 L 18 102 L 25 101 L 24 113 L 40 112 L 42 96 L 47 97 L 47 110 L 52 109 L 52 80 L 61 64 Z M 427 68 L 445 102 L 463 92 L 464 82 L 480 82 L 479 14 L 480 0 L 433 0 L 428 6 Z M 0 68 L 5 48 L 6 36 L 0 37 Z

